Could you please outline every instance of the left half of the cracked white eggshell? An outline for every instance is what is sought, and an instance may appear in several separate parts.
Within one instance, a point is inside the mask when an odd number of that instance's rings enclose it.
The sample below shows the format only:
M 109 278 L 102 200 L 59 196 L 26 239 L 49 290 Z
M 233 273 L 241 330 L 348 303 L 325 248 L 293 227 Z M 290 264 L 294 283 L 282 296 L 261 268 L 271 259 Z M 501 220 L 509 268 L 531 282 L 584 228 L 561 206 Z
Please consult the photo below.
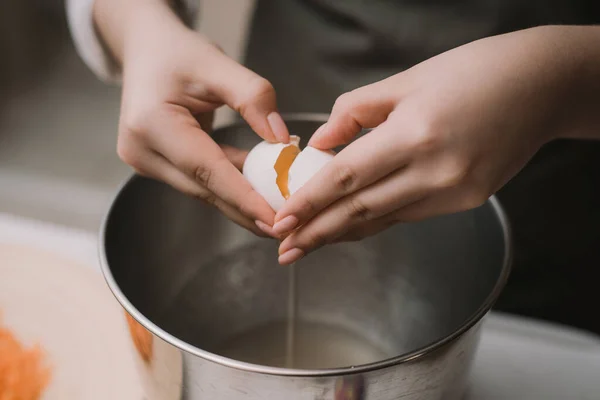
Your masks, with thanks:
M 278 211 L 285 203 L 285 198 L 276 183 L 275 162 L 285 147 L 298 146 L 299 142 L 298 136 L 291 136 L 288 144 L 260 142 L 250 150 L 244 161 L 242 170 L 244 177 L 275 211 Z

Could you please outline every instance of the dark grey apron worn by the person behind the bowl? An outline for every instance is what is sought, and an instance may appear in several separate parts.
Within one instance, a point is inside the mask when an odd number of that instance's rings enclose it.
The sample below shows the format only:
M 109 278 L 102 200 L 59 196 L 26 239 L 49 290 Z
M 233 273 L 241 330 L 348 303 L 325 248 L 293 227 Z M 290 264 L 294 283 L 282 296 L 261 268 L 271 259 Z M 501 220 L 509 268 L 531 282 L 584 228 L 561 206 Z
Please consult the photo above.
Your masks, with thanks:
M 258 0 L 246 65 L 282 111 L 329 112 L 340 94 L 472 40 L 599 21 L 598 1 Z M 496 308 L 600 333 L 600 142 L 547 145 L 498 196 L 515 260 Z

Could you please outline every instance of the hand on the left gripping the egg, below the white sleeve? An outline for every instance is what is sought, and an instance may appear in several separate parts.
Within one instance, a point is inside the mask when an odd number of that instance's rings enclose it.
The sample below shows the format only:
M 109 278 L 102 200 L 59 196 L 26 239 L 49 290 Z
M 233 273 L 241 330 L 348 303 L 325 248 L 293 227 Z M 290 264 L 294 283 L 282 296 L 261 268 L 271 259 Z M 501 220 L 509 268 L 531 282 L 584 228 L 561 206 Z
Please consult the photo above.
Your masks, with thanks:
M 207 133 L 225 104 L 263 139 L 287 142 L 271 84 L 185 27 L 163 1 L 96 1 L 96 25 L 123 71 L 120 158 L 271 234 L 273 210 L 240 173 L 246 152 L 221 148 Z

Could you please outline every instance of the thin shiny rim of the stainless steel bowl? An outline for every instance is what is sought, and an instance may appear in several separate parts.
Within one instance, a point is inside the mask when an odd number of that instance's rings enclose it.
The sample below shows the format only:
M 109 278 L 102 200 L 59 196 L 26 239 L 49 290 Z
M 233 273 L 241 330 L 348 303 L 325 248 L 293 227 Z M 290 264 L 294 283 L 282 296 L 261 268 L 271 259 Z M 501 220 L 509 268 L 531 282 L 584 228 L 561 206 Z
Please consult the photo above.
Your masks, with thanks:
M 329 114 L 324 113 L 288 113 L 282 114 L 283 119 L 286 122 L 327 122 Z M 243 127 L 247 126 L 244 121 L 235 121 L 231 124 L 227 124 L 224 126 L 220 126 L 215 131 L 221 129 L 235 128 L 235 127 Z M 106 231 L 108 227 L 108 223 L 111 215 L 113 214 L 113 209 L 117 203 L 117 200 L 123 193 L 123 191 L 132 184 L 135 180 L 139 179 L 137 174 L 131 174 L 127 179 L 125 179 L 121 185 L 118 187 L 116 194 L 113 196 L 113 199 L 110 203 L 108 212 L 103 218 L 102 225 L 100 227 L 100 236 L 99 236 L 99 247 L 98 253 L 100 258 L 100 268 L 102 270 L 102 274 L 104 275 L 104 279 L 108 284 L 111 292 L 117 301 L 121 304 L 121 306 L 127 311 L 137 322 L 139 322 L 144 328 L 149 330 L 153 335 L 159 337 L 163 341 L 175 346 L 180 351 L 185 353 L 189 353 L 196 357 L 205 359 L 207 361 L 211 361 L 217 364 L 220 364 L 225 367 L 234 368 L 237 370 L 242 370 L 245 372 L 258 373 L 258 374 L 266 374 L 266 375 L 277 375 L 277 376 L 295 376 L 295 377 L 326 377 L 326 376 L 340 376 L 340 375 L 348 375 L 348 374 L 357 374 L 357 373 L 365 373 L 373 370 L 380 370 L 384 368 L 389 368 L 398 364 L 405 364 L 408 362 L 416 361 L 426 357 L 427 355 L 443 348 L 444 346 L 454 342 L 459 339 L 463 334 L 473 328 L 492 308 L 496 300 L 498 299 L 500 293 L 504 289 L 506 282 L 508 280 L 508 276 L 511 271 L 512 257 L 513 257 L 513 244 L 512 244 L 512 234 L 511 227 L 507 218 L 507 215 L 500 205 L 497 197 L 495 195 L 490 196 L 486 203 L 491 204 L 492 209 L 495 211 L 498 222 L 500 223 L 500 227 L 502 228 L 504 244 L 505 244 L 505 252 L 504 258 L 502 261 L 502 269 L 500 271 L 500 275 L 494 288 L 488 294 L 485 301 L 479 306 L 477 310 L 454 332 L 450 335 L 447 335 L 441 339 L 433 341 L 432 343 L 421 346 L 409 353 L 387 358 L 384 360 L 376 361 L 369 364 L 361 364 L 352 367 L 342 367 L 342 368 L 329 368 L 329 369 L 292 369 L 292 368 L 280 368 L 280 367 L 270 367 L 259 364 L 252 364 L 248 362 L 243 362 L 235 359 L 231 359 L 228 357 L 220 356 L 214 353 L 211 353 L 206 350 L 202 350 L 196 346 L 193 346 L 179 338 L 171 335 L 166 332 L 158 325 L 154 324 L 150 321 L 146 316 L 144 316 L 139 310 L 137 310 L 133 304 L 129 301 L 129 299 L 125 296 L 125 294 L 121 291 L 121 288 L 117 284 L 110 267 L 108 265 L 108 259 L 106 254 Z

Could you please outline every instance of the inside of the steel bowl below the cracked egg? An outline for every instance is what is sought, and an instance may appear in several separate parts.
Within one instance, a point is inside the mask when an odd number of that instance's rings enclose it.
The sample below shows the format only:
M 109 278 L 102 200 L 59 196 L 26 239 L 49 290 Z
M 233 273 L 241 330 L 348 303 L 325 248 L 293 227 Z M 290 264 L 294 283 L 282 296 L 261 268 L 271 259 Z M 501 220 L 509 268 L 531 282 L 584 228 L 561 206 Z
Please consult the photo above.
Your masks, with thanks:
M 288 119 L 304 142 L 319 124 Z M 258 142 L 245 125 L 214 135 L 243 148 Z M 168 335 L 282 366 L 290 274 L 277 264 L 275 241 L 163 183 L 133 177 L 110 210 L 103 246 L 118 290 Z M 298 366 L 366 364 L 452 335 L 491 306 L 507 250 L 503 219 L 488 202 L 309 255 L 296 264 Z

